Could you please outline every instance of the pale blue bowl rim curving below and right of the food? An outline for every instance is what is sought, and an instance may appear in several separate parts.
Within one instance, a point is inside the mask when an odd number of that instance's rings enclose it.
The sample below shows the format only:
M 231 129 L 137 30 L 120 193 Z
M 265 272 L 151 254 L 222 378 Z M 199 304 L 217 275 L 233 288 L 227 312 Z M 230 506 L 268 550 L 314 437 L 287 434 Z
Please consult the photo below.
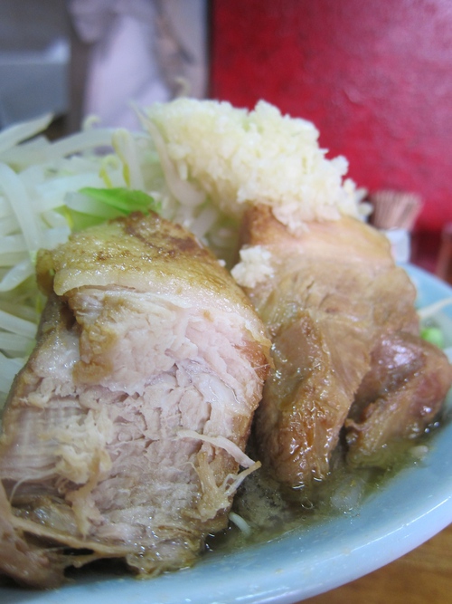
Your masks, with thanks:
M 407 267 L 419 305 L 452 296 L 452 289 Z M 443 312 L 452 345 L 452 307 Z M 447 399 L 452 411 L 452 396 Z M 212 553 L 190 570 L 152 580 L 102 577 L 54 591 L 0 588 L 2 604 L 292 604 L 362 577 L 425 542 L 452 522 L 452 422 L 432 437 L 428 455 L 364 500 L 354 513 L 300 526 L 271 542 Z

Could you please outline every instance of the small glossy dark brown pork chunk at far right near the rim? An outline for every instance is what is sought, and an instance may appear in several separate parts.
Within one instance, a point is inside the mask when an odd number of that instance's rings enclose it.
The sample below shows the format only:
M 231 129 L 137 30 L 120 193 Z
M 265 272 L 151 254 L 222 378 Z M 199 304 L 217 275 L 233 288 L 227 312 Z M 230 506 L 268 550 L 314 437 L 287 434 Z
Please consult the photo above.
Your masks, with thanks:
M 436 346 L 403 331 L 381 334 L 345 421 L 348 461 L 390 465 L 388 443 L 423 434 L 451 382 L 452 367 Z

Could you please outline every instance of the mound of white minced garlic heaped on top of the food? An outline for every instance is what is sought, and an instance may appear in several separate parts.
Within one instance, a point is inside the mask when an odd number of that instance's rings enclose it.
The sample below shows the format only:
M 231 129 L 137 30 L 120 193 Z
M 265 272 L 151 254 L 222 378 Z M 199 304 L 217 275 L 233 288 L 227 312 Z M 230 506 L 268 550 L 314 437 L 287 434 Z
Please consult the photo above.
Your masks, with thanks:
M 361 214 L 360 195 L 344 179 L 346 159 L 325 158 L 311 122 L 283 116 L 268 102 L 248 111 L 226 101 L 184 98 L 155 103 L 147 117 L 178 176 L 228 216 L 268 204 L 297 231 L 312 220 Z

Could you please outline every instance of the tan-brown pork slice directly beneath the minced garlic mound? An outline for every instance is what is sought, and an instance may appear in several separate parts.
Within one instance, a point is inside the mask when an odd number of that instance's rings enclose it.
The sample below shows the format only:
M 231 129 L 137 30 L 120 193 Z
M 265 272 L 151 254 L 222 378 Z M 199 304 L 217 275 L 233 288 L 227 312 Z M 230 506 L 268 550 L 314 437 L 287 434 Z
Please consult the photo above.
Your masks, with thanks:
M 386 238 L 353 218 L 312 222 L 296 236 L 258 206 L 245 217 L 242 239 L 271 254 L 272 275 L 246 290 L 268 326 L 275 363 L 256 417 L 259 453 L 281 482 L 312 484 L 328 473 L 355 394 L 372 369 L 373 348 L 394 333 L 417 337 L 415 288 L 394 264 Z M 359 432 L 359 419 L 351 427 L 364 448 L 372 436 L 366 428 Z M 358 463 L 356 446 L 353 455 Z

